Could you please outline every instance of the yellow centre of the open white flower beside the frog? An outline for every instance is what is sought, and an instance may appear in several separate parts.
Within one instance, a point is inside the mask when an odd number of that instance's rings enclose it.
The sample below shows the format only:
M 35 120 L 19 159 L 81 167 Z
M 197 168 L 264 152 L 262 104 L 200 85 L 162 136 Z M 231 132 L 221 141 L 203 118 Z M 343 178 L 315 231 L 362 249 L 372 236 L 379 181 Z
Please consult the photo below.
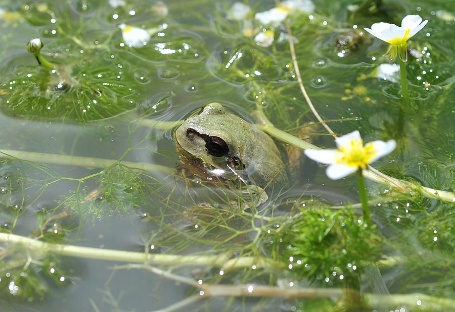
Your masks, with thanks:
M 375 154 L 376 149 L 373 144 L 368 143 L 363 146 L 361 139 L 351 140 L 339 148 L 335 155 L 335 163 L 365 169 Z

